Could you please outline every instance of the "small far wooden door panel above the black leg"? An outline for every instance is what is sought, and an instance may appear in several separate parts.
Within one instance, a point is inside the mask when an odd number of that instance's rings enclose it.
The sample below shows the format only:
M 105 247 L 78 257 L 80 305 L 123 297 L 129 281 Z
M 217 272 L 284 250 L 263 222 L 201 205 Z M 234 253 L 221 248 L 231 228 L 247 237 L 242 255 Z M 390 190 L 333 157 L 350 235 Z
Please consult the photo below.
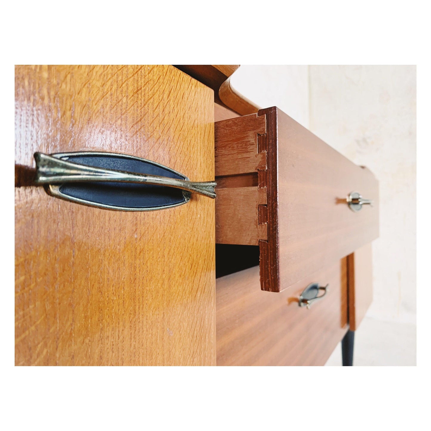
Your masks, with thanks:
M 358 329 L 373 300 L 373 265 L 371 244 L 347 256 L 349 276 L 349 325 Z

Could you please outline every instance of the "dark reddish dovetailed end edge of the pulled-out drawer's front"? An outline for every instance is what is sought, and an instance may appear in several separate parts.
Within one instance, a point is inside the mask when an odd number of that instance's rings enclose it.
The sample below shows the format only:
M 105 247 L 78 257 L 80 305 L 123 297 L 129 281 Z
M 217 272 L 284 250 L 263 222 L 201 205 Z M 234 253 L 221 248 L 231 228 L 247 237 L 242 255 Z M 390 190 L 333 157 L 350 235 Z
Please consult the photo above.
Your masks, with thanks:
M 278 108 L 259 109 L 258 116 L 266 115 L 266 134 L 258 135 L 258 152 L 266 151 L 266 170 L 259 170 L 259 188 L 266 187 L 266 217 L 268 240 L 259 240 L 260 286 L 262 290 L 280 292 L 280 256 L 278 247 Z M 264 212 L 265 206 L 259 206 Z

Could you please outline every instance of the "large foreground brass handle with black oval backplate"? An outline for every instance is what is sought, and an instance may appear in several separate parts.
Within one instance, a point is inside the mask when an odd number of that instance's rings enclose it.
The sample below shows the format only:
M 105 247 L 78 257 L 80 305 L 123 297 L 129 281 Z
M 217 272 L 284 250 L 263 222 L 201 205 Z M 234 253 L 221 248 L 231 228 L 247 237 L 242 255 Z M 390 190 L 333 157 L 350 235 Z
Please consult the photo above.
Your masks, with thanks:
M 89 206 L 149 211 L 187 203 L 191 193 L 215 198 L 215 181 L 189 181 L 173 169 L 139 157 L 86 151 L 37 152 L 34 159 L 36 184 L 45 185 L 48 194 Z

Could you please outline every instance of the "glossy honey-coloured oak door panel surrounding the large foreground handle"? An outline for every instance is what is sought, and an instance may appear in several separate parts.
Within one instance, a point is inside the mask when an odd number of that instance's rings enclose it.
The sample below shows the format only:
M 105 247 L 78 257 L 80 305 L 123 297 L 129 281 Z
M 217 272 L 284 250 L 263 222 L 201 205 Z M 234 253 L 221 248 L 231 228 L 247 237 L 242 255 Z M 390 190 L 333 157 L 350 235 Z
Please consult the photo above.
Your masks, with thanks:
M 35 151 L 103 150 L 214 179 L 212 90 L 173 66 L 17 66 L 15 98 L 19 171 Z M 215 365 L 213 200 L 109 211 L 23 178 L 16 365 Z

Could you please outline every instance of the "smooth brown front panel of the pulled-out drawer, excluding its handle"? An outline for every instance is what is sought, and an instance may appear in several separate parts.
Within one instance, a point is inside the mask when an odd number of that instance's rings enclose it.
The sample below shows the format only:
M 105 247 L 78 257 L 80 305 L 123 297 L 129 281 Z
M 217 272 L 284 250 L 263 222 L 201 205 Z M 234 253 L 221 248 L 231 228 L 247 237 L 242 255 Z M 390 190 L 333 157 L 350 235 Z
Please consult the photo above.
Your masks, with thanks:
M 277 133 L 265 138 L 271 184 L 268 243 L 278 250 L 280 272 L 278 286 L 269 289 L 278 291 L 378 237 L 378 181 L 369 169 L 356 166 L 280 109 L 264 109 L 259 115 L 266 115 L 270 124 L 277 122 L 272 128 Z M 374 206 L 353 212 L 346 203 L 352 191 L 372 199 Z M 274 214 L 277 230 L 272 230 Z M 276 236 L 278 243 L 272 245 Z

